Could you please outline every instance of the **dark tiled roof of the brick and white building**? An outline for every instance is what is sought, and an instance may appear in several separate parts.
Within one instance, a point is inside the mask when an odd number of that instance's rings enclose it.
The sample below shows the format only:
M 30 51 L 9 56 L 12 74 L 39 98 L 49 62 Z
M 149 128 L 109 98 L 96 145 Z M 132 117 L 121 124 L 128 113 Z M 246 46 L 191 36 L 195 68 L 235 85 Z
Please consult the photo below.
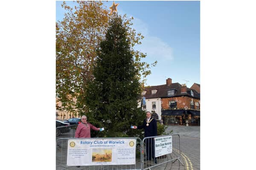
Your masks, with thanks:
M 155 86 L 149 86 L 144 88 L 144 91 L 146 91 L 146 94 L 143 95 L 146 99 L 151 98 L 165 98 L 170 97 L 167 95 L 167 90 L 175 89 L 175 95 L 174 96 L 190 96 L 197 99 L 200 99 L 200 94 L 198 94 L 197 91 L 191 88 L 186 87 L 186 94 L 181 94 L 181 85 L 180 83 L 172 83 L 171 85 L 155 85 Z M 157 90 L 155 94 L 151 94 L 151 90 Z M 191 96 L 191 90 L 194 93 L 194 96 Z M 173 96 L 171 96 L 173 97 Z

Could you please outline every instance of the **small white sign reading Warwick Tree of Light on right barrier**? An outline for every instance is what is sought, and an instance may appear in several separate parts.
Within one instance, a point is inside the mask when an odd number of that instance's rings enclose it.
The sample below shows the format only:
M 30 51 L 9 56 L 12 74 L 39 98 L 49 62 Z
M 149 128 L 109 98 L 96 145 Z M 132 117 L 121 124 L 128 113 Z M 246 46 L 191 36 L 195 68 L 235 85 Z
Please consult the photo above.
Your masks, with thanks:
M 172 136 L 154 138 L 155 157 L 172 153 Z

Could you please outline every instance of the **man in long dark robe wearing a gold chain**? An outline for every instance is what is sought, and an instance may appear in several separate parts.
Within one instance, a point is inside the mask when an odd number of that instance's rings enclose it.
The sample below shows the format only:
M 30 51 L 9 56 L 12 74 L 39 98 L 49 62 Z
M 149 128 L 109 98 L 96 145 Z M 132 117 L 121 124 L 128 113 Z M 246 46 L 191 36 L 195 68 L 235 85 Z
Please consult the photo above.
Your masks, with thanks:
M 145 137 L 157 136 L 157 121 L 151 117 L 150 112 L 146 113 L 146 119 L 143 121 L 143 125 L 134 126 L 134 129 L 144 129 Z M 146 142 L 146 160 L 154 159 L 157 164 L 157 159 L 154 157 L 154 138 L 145 139 Z

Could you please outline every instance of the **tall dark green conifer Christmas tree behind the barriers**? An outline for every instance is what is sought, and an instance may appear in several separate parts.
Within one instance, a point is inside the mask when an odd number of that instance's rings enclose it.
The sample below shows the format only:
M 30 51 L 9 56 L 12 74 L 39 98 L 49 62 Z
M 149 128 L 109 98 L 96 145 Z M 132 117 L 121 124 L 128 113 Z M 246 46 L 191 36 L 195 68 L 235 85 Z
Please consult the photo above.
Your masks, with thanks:
M 135 136 L 140 132 L 130 128 L 145 117 L 137 107 L 141 94 L 137 73 L 127 30 L 122 18 L 113 14 L 97 51 L 94 79 L 85 88 L 89 122 L 105 127 L 98 136 Z

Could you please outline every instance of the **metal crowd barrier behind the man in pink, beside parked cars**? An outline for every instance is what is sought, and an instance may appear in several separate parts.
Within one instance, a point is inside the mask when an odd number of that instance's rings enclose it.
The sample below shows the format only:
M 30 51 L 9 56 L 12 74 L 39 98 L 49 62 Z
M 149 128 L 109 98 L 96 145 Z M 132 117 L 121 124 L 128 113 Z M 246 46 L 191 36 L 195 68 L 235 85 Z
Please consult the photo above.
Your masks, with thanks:
M 61 142 L 58 141 L 60 138 L 74 138 L 76 133 L 77 125 L 68 125 L 56 127 L 56 147 L 61 147 Z M 65 142 L 65 141 L 64 141 Z

